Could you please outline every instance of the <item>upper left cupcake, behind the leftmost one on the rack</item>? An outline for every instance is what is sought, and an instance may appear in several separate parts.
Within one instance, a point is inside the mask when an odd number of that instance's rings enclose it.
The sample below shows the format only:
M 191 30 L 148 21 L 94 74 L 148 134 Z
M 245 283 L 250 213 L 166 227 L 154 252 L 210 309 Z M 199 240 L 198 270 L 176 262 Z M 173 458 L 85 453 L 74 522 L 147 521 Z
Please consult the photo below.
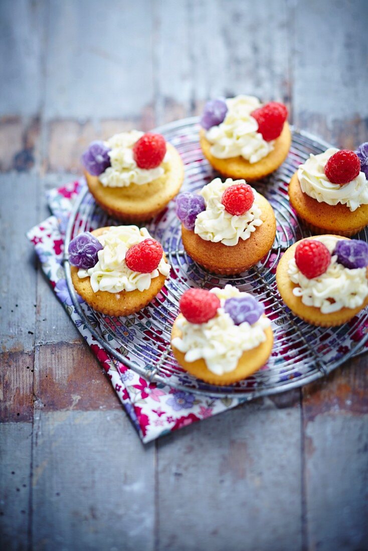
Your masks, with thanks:
M 179 153 L 161 134 L 122 132 L 82 155 L 95 201 L 111 216 L 142 222 L 161 212 L 184 179 Z

